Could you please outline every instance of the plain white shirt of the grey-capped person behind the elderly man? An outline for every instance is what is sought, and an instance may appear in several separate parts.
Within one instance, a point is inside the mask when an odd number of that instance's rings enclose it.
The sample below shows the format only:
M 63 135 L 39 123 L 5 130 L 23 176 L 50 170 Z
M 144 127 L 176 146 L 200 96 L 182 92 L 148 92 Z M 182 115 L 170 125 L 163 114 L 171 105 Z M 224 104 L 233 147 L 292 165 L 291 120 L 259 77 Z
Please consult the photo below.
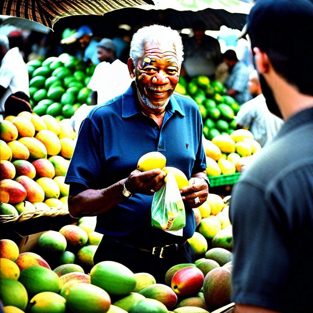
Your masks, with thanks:
M 111 64 L 101 62 L 96 68 L 88 84 L 88 88 L 98 94 L 98 104 L 103 104 L 123 94 L 131 85 L 132 79 L 125 63 L 116 59 Z M 82 121 L 87 117 L 94 105 L 81 105 L 71 117 L 72 126 L 79 131 Z

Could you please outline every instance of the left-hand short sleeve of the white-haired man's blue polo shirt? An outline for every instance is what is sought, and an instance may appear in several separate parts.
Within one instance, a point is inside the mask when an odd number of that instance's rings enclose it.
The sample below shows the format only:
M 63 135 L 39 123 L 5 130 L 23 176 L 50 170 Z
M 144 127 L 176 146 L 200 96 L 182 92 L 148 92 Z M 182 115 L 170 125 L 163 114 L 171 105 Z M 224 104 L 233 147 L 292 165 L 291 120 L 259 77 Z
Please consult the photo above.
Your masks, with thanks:
M 86 118 L 81 124 L 75 150 L 69 164 L 65 182 L 79 183 L 86 189 L 99 189 L 102 186 L 102 169 L 105 158 L 102 151 L 102 134 L 90 120 Z

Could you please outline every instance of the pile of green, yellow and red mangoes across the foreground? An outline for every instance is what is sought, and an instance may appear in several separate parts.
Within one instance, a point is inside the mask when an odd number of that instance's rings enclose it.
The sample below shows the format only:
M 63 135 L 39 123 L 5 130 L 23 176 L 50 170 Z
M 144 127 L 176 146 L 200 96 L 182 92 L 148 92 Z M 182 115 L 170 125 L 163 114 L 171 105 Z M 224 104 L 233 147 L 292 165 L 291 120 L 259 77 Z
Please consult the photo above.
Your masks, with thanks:
M 225 203 L 214 196 L 203 205 L 205 208 L 194 209 L 196 219 L 200 219 L 197 223 L 208 219 L 201 220 L 200 211 L 218 219 L 217 212 Z M 207 238 L 217 232 L 215 226 L 201 223 L 199 231 Z M 0 240 L 4 312 L 208 313 L 230 303 L 232 253 L 220 247 L 207 250 L 208 243 L 200 233 L 189 239 L 196 252 L 195 263 L 174 265 L 164 282 L 156 283 L 151 274 L 133 273 L 120 263 L 94 264 L 93 256 L 102 239 L 94 229 L 95 218 L 84 217 L 59 232 L 47 231 L 34 252 L 19 253 L 12 240 Z M 226 241 L 229 238 L 224 238 Z

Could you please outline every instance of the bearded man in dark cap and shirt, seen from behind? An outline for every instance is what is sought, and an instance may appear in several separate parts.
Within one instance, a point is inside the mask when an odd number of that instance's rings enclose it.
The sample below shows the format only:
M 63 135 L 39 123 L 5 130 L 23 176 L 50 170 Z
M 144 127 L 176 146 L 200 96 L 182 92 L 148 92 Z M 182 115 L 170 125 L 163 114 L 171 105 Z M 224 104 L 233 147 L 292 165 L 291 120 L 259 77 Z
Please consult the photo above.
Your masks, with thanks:
M 233 188 L 236 313 L 312 311 L 312 30 L 309 0 L 260 0 L 248 17 L 266 103 L 285 124 Z

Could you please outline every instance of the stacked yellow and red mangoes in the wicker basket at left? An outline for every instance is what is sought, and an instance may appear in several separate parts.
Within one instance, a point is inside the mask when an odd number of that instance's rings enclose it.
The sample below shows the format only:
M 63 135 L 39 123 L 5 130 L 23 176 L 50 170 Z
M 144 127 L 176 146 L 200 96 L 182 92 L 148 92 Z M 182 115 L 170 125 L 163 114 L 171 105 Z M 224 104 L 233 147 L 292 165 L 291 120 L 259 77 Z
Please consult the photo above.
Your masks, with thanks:
M 67 207 L 76 137 L 69 120 L 21 112 L 0 125 L 0 215 Z

